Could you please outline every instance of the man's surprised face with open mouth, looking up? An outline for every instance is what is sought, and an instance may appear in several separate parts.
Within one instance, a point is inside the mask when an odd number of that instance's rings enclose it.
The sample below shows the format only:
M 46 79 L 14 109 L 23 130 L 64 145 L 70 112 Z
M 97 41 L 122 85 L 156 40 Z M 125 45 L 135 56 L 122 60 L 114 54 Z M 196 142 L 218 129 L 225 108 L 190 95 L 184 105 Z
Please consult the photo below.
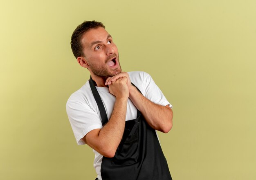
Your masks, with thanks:
M 121 73 L 117 46 L 104 28 L 99 27 L 86 32 L 81 43 L 90 73 L 103 77 Z

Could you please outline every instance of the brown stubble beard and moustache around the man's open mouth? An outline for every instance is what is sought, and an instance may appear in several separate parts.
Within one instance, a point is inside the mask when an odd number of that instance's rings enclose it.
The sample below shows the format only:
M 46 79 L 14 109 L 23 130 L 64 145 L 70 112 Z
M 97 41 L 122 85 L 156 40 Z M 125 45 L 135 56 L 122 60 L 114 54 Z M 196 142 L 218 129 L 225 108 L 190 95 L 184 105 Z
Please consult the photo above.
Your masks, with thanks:
M 115 69 L 108 69 L 108 65 L 107 65 L 107 62 L 112 59 L 113 57 L 117 57 L 116 58 L 116 61 L 118 59 L 118 64 L 119 66 Z M 116 62 L 117 63 L 117 62 Z M 122 69 L 121 69 L 121 65 L 119 63 L 119 56 L 117 56 L 116 53 L 114 53 L 112 56 L 109 56 L 106 60 L 105 60 L 105 65 L 104 66 L 95 66 L 94 64 L 90 64 L 90 69 L 92 71 L 92 73 L 94 73 L 95 76 L 98 76 L 98 77 L 112 77 L 112 76 L 115 76 L 116 74 L 118 73 L 121 73 L 122 72 Z

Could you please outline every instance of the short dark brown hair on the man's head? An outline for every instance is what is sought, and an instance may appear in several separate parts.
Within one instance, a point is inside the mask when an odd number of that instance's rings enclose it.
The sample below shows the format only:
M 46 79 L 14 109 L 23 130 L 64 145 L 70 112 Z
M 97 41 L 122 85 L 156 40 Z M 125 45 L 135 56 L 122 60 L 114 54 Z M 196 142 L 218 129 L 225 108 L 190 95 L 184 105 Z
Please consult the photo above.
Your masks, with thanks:
M 85 56 L 83 54 L 83 45 L 81 44 L 81 38 L 83 34 L 89 31 L 90 29 L 96 29 L 98 27 L 103 27 L 105 29 L 105 26 L 101 22 L 97 21 L 85 21 L 78 27 L 76 27 L 71 36 L 70 42 L 72 52 L 76 58 L 79 56 Z

